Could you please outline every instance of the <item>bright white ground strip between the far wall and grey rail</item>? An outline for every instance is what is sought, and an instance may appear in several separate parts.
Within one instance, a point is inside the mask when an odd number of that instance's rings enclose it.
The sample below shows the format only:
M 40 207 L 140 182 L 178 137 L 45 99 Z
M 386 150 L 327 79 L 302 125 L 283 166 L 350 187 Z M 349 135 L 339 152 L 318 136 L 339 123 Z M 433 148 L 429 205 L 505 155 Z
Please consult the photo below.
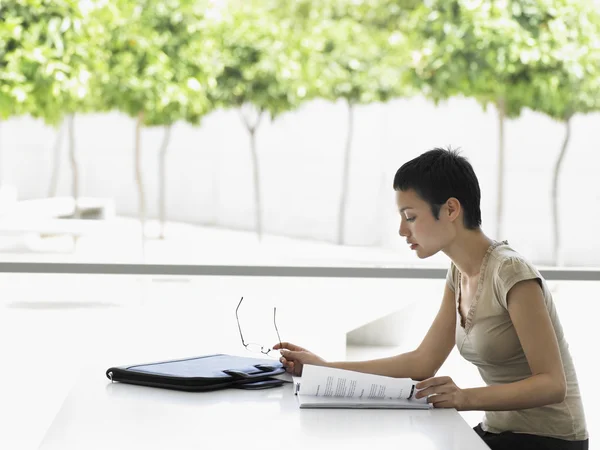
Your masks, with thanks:
M 98 262 L 228 265 L 325 266 L 444 266 L 445 256 L 424 261 L 402 250 L 336 245 L 323 241 L 264 235 L 251 231 L 168 222 L 166 239 L 158 239 L 160 226 L 149 221 L 145 240 L 139 221 L 118 217 L 105 234 L 43 236 L 35 233 L 2 235 L 0 260 L 40 262 Z

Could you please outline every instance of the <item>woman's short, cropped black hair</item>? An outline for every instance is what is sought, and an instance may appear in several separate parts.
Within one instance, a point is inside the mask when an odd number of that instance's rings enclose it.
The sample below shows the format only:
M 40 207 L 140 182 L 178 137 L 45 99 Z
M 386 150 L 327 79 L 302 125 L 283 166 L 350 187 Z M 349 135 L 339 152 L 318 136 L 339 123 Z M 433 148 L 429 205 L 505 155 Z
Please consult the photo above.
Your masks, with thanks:
M 458 150 L 434 148 L 403 164 L 394 177 L 394 190 L 414 191 L 431 206 L 436 220 L 450 197 L 460 202 L 465 227 L 481 225 L 481 191 L 471 163 Z

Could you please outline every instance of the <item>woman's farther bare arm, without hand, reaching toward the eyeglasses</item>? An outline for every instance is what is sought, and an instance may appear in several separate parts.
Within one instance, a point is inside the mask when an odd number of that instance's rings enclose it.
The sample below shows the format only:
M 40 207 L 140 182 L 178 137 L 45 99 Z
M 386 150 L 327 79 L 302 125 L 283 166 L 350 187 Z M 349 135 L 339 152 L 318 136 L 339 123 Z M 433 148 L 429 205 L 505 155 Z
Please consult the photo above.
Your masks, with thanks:
M 434 376 L 450 354 L 455 342 L 455 327 L 454 292 L 446 285 L 437 316 L 416 350 L 389 358 L 331 362 L 326 365 L 388 377 L 424 380 Z

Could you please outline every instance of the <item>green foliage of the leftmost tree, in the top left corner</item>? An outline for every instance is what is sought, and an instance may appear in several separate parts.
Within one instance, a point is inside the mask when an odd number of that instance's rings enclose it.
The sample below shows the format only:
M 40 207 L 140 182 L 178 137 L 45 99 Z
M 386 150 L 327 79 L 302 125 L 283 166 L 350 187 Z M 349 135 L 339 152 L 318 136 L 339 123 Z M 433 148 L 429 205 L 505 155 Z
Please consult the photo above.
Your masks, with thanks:
M 85 108 L 93 46 L 78 0 L 0 0 L 0 118 Z

